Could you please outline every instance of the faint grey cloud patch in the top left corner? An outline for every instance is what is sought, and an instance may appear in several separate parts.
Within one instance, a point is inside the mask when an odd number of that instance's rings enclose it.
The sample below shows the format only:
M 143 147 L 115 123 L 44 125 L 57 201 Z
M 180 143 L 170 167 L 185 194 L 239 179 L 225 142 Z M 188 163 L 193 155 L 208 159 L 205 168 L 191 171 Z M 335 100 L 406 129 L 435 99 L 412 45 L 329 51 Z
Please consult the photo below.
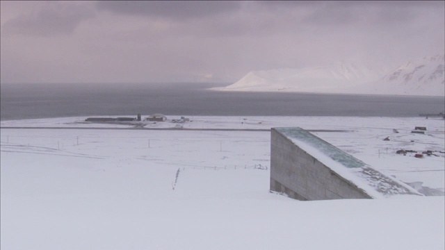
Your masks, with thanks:
M 70 34 L 84 19 L 94 17 L 85 5 L 53 3 L 46 8 L 19 15 L 3 24 L 4 35 L 52 36 Z

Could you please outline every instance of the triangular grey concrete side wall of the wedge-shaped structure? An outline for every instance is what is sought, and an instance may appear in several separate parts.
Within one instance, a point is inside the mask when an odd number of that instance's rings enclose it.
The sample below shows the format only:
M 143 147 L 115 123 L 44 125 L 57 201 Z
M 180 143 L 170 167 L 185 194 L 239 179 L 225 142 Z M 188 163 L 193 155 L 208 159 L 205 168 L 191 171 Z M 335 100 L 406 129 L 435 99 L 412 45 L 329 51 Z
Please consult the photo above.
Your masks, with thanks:
M 271 191 L 302 201 L 371 198 L 274 128 L 270 143 Z

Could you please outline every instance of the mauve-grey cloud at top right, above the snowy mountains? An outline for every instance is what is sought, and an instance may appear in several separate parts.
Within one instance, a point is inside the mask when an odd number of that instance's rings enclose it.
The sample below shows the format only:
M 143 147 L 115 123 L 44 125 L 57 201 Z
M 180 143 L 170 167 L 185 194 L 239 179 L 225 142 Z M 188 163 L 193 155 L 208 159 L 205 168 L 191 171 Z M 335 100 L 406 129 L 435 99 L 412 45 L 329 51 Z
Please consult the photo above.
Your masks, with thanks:
M 440 12 L 443 1 L 257 1 L 260 8 L 292 13 L 316 26 L 343 26 L 361 22 L 398 25 L 412 22 L 421 10 Z M 442 12 L 443 15 L 443 12 Z

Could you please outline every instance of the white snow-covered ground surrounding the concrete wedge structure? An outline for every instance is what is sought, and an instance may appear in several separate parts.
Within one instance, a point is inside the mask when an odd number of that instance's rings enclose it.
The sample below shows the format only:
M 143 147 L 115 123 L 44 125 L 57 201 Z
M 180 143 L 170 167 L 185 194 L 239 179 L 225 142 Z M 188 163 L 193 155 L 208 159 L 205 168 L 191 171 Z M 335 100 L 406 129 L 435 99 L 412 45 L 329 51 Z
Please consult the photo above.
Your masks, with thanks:
M 84 118 L 1 126 L 133 126 Z M 401 181 L 444 191 L 443 119 L 189 118 L 139 126 L 344 130 L 314 134 Z M 414 126 L 426 126 L 426 134 L 411 133 Z M 3 128 L 0 140 L 1 249 L 445 247 L 443 196 L 296 201 L 271 194 L 267 131 Z

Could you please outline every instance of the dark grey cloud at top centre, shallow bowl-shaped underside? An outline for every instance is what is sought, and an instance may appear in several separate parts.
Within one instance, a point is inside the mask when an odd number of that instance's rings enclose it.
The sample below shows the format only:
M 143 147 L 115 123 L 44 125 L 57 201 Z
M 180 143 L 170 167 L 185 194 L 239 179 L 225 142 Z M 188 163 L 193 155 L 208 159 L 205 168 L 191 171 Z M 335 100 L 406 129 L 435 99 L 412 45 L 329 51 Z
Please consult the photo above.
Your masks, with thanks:
M 97 10 L 172 20 L 209 17 L 240 7 L 238 1 L 97 1 Z

